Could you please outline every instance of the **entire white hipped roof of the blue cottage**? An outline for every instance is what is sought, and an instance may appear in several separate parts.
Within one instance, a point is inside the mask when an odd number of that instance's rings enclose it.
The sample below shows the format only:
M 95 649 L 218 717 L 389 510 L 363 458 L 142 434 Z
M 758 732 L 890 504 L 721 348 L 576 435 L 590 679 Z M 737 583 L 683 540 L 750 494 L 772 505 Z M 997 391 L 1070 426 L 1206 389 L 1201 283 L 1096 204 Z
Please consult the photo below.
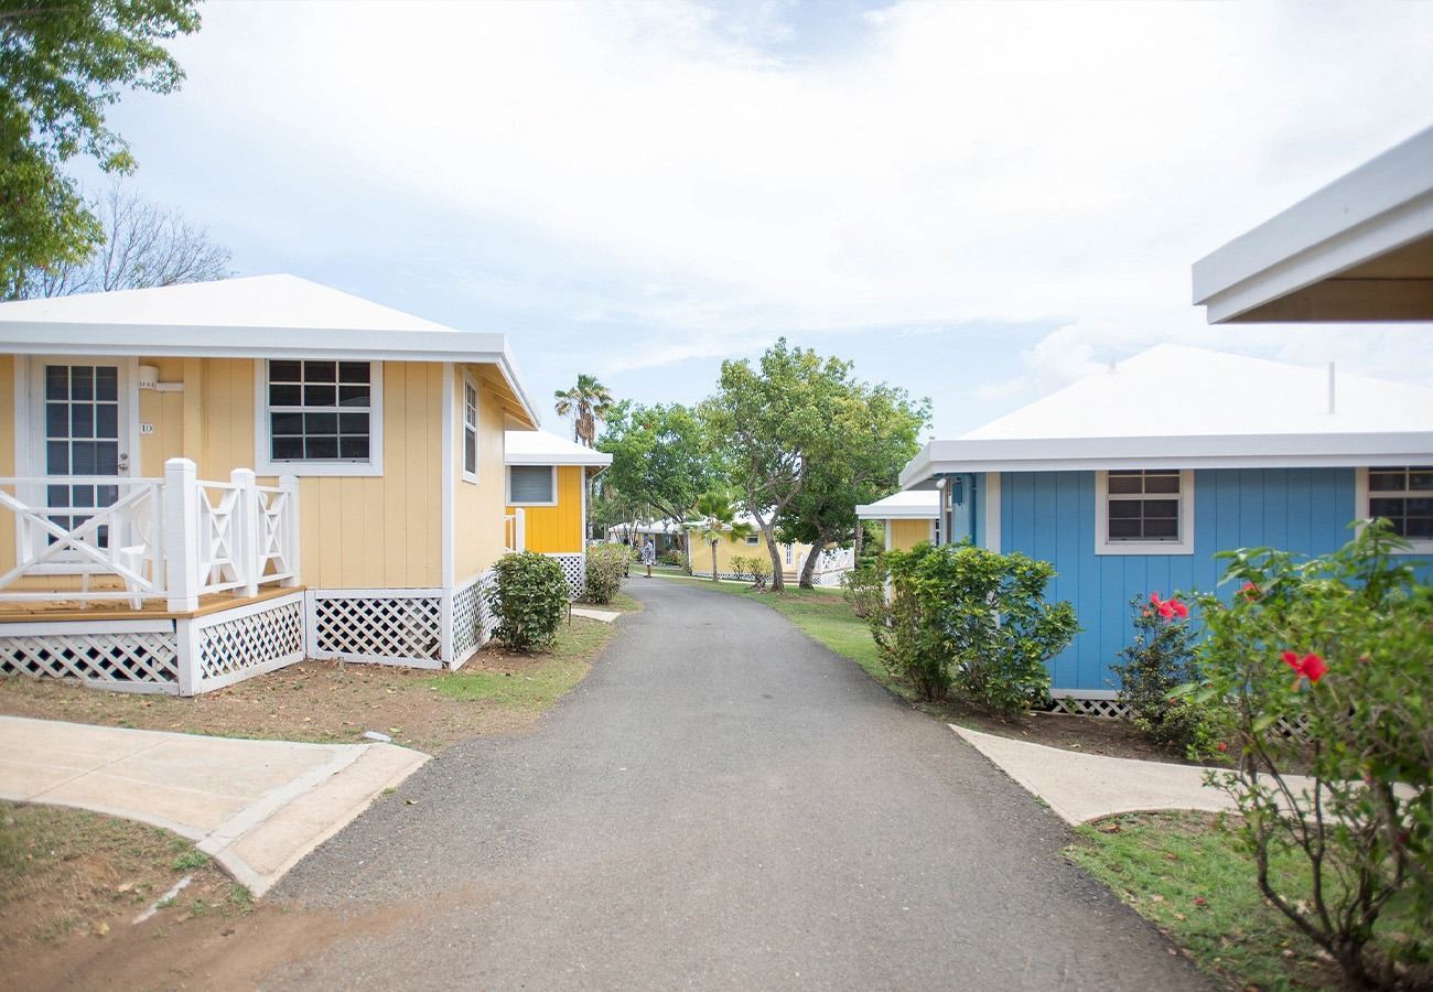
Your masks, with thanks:
M 901 472 L 1351 466 L 1433 462 L 1433 388 L 1161 344 Z

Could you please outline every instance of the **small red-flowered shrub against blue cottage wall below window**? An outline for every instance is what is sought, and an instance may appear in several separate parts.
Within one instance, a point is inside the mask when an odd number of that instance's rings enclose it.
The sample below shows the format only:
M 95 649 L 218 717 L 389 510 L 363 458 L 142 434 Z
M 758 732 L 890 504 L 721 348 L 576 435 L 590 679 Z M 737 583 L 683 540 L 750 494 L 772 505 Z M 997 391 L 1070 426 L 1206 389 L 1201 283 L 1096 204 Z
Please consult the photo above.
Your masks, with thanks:
M 1172 695 L 1195 679 L 1198 667 L 1187 608 L 1178 599 L 1165 604 L 1161 614 L 1159 593 L 1129 601 L 1135 639 L 1113 665 L 1119 701 L 1129 707 L 1131 722 L 1152 741 L 1176 747 L 1192 761 L 1209 760 L 1219 754 L 1218 708 Z

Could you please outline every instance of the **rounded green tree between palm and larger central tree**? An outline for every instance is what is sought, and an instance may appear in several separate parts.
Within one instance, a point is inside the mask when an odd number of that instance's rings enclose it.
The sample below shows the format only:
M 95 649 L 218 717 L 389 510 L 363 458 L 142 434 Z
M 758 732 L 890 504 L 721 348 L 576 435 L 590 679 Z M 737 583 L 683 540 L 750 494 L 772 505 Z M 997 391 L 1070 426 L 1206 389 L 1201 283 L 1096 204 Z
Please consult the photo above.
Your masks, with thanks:
M 612 454 L 603 473 L 610 486 L 678 526 L 718 480 L 702 421 L 681 403 L 619 404 L 598 447 Z

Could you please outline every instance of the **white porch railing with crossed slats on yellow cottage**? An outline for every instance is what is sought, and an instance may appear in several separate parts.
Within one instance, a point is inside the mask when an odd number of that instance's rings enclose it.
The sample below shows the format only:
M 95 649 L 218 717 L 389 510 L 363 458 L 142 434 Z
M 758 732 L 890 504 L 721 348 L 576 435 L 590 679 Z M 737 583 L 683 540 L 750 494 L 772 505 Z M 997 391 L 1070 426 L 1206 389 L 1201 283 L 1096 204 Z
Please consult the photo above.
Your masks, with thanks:
M 251 469 L 236 469 L 228 482 L 209 482 L 193 462 L 171 459 L 163 479 L 0 479 L 0 509 L 16 520 L 16 561 L 0 575 L 0 602 L 165 599 L 178 612 L 214 592 L 252 596 L 261 585 L 298 585 L 292 476 L 259 486 Z M 79 576 L 80 588 L 13 588 L 59 576 Z M 92 589 L 95 576 L 119 579 L 123 589 Z

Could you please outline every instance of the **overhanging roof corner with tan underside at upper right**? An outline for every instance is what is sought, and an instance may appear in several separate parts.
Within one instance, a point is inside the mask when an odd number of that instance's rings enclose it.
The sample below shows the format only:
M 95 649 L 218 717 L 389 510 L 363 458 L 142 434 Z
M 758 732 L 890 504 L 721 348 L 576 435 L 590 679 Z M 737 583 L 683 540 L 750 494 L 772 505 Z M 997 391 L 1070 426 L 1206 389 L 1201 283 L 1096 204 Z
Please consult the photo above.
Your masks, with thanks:
M 1433 320 L 1433 128 L 1194 264 L 1211 324 Z

